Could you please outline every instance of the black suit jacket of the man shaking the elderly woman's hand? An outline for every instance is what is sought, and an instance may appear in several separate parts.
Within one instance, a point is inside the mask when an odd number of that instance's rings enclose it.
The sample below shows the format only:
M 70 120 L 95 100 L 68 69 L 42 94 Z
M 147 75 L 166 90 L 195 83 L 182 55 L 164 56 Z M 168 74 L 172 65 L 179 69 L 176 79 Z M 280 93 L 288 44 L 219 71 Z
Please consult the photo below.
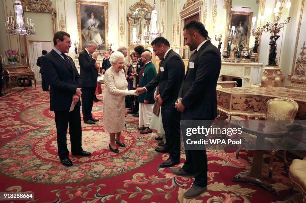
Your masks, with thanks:
M 160 97 L 163 99 L 162 105 L 166 108 L 174 108 L 184 76 L 184 62 L 175 51 L 170 50 L 160 61 L 158 74 L 145 88 L 151 91 L 159 85 Z

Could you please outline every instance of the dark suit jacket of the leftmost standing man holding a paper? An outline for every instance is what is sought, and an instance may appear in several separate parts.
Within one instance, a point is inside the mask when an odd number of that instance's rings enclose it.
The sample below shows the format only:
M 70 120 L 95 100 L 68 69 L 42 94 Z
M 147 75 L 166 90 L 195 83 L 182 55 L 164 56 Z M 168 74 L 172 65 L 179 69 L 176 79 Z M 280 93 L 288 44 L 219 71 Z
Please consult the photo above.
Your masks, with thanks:
M 81 77 L 72 58 L 67 57 L 72 68 L 54 50 L 43 56 L 41 60 L 43 73 L 50 84 L 50 110 L 52 111 L 69 111 L 76 88 L 81 88 Z M 80 101 L 76 106 L 80 106 Z

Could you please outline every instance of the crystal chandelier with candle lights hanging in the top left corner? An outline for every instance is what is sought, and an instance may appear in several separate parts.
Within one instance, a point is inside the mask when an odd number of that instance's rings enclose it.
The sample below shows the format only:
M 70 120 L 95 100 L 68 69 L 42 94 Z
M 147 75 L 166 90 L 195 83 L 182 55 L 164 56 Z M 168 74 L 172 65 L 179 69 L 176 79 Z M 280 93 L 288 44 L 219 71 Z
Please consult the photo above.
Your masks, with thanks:
M 20 0 L 14 1 L 14 10 L 16 13 L 16 20 L 12 13 L 7 16 L 7 20 L 4 21 L 7 35 L 36 35 L 35 24 L 31 19 L 26 20 L 24 24 L 23 7 Z

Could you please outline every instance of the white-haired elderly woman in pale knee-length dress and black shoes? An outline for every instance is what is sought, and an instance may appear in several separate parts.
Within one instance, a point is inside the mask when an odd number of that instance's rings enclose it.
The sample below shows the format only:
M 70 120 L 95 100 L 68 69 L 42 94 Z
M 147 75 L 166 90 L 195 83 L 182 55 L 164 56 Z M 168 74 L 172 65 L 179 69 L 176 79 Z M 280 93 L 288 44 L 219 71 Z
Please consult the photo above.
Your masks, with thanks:
M 121 131 L 125 128 L 125 96 L 138 95 L 135 90 L 127 89 L 124 60 L 121 52 L 111 54 L 111 67 L 104 75 L 104 129 L 110 134 L 109 149 L 114 153 L 119 153 L 116 144 L 125 147 L 120 139 Z

